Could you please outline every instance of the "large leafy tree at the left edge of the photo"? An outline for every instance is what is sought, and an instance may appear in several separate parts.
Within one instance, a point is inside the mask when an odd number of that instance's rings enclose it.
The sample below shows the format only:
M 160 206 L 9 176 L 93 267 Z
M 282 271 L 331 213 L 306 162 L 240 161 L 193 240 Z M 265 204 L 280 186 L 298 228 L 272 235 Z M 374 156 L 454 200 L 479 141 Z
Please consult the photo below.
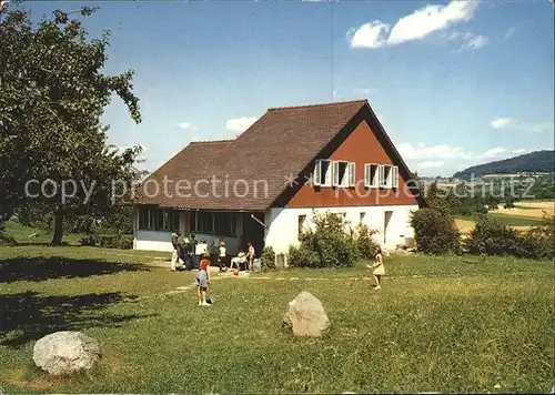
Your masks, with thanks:
M 81 21 L 70 19 L 95 10 L 56 10 L 37 27 L 20 4 L 1 11 L 0 222 L 18 207 L 46 206 L 53 245 L 61 244 L 64 217 L 107 215 L 115 203 L 112 181 L 141 175 L 134 168 L 141 148 L 109 145 L 109 126 L 100 122 L 113 93 L 141 122 L 133 71 L 102 73 L 109 32 L 90 40 Z

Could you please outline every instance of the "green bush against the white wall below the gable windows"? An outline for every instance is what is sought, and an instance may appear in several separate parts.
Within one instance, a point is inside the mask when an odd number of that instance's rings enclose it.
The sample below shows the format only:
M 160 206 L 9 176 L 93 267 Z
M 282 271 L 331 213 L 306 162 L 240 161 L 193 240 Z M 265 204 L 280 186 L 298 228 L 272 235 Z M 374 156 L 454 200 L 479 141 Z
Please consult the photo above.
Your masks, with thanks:
M 289 262 L 297 267 L 352 266 L 357 259 L 352 234 L 346 232 L 346 221 L 341 214 L 313 213 L 314 231 L 300 236 L 299 247 L 290 247 Z

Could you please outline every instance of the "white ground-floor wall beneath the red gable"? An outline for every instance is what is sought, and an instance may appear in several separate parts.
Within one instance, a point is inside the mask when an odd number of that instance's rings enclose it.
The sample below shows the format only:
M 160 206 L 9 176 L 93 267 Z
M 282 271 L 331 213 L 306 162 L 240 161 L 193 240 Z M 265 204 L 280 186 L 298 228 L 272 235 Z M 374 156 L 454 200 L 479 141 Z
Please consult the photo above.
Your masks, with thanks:
M 353 229 L 360 223 L 361 213 L 365 213 L 363 223 L 379 233 L 376 241 L 385 249 L 393 250 L 398 244 L 405 244 L 405 237 L 413 237 L 410 213 L 417 210 L 417 205 L 380 205 L 356 207 L 319 207 L 316 212 L 345 213 L 349 225 Z M 386 211 L 393 215 L 387 224 L 386 242 L 384 243 L 384 216 Z M 281 209 L 273 207 L 265 213 L 265 245 L 271 245 L 276 254 L 286 253 L 289 246 L 299 244 L 299 215 L 306 215 L 306 225 L 313 226 L 312 209 Z

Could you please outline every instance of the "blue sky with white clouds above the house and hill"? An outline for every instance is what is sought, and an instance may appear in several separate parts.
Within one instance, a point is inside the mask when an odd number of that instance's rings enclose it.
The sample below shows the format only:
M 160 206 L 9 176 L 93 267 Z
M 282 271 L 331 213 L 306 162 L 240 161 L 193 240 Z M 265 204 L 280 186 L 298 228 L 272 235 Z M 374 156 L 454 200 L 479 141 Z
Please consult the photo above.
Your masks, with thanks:
M 135 71 L 142 123 L 117 99 L 103 121 L 150 171 L 269 108 L 355 99 L 421 175 L 554 148 L 549 0 L 26 2 L 34 20 L 79 6 L 111 31 L 105 72 Z

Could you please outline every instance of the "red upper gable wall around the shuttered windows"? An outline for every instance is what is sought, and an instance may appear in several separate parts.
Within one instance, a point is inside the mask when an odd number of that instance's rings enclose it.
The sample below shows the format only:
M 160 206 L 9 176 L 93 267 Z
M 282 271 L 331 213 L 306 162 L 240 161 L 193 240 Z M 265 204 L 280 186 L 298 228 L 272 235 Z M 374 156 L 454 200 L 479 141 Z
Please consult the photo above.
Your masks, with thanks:
M 325 158 L 320 158 L 325 159 Z M 330 207 L 361 205 L 416 205 L 416 199 L 398 175 L 398 189 L 364 188 L 364 163 L 393 163 L 366 121 L 361 122 L 345 141 L 332 153 L 330 160 L 355 162 L 355 188 L 312 186 L 304 184 L 285 205 L 286 207 Z

